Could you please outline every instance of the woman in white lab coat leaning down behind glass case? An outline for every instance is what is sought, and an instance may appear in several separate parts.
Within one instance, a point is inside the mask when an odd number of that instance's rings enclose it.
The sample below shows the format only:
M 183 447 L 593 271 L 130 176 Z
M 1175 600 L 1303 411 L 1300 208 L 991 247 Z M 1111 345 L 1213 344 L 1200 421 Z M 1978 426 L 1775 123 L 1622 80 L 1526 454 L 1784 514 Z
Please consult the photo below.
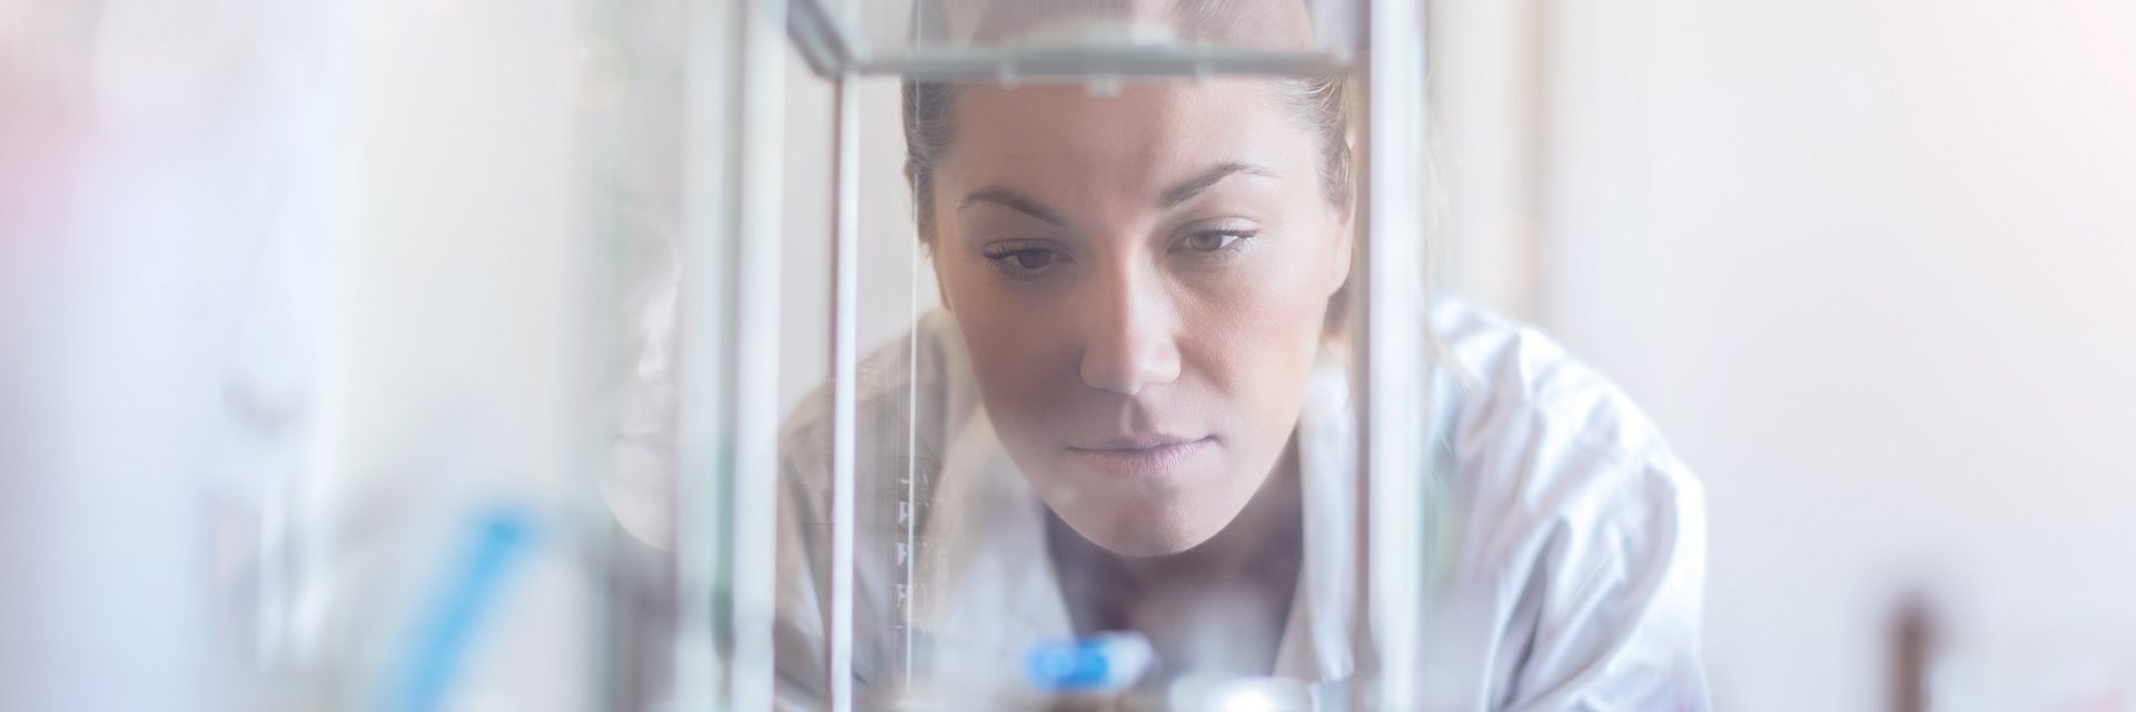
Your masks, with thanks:
M 1143 19 L 1305 43 L 1303 4 L 1188 4 Z M 1040 32 L 989 21 L 983 36 Z M 908 661 L 916 686 L 1000 708 L 1034 646 L 1134 631 L 1156 650 L 1149 686 L 1269 676 L 1344 706 L 1361 629 L 1346 94 L 906 86 L 944 304 L 863 366 L 863 703 L 906 688 Z M 1427 708 L 1705 708 L 1692 475 L 1540 334 L 1459 301 L 1429 329 L 1446 466 L 1418 552 Z M 824 688 L 827 438 L 816 400 L 784 440 L 778 665 L 795 708 Z

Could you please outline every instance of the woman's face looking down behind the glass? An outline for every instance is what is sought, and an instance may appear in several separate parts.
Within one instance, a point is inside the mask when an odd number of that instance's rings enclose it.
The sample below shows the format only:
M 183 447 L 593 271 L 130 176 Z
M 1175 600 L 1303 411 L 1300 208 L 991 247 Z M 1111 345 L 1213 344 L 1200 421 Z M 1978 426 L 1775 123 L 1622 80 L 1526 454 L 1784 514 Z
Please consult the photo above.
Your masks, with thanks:
M 959 88 L 933 259 L 1010 458 L 1085 539 L 1177 554 L 1277 464 L 1348 210 L 1267 81 Z

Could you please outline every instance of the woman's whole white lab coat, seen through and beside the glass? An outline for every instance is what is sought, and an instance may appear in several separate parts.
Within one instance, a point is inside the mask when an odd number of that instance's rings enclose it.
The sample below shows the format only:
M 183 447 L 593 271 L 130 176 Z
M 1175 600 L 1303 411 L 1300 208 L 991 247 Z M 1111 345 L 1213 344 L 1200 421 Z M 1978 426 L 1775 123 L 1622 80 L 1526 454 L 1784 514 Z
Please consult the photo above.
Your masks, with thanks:
M 1698 481 L 1621 391 L 1542 334 L 1452 299 L 1431 331 L 1442 466 L 1418 552 L 1431 577 L 1423 708 L 1705 710 Z M 1305 558 L 1273 674 L 1339 710 L 1363 631 L 1356 438 L 1341 359 L 1324 357 L 1314 381 L 1299 419 Z M 899 686 L 910 646 L 938 671 L 936 697 L 998 708 L 1023 650 L 1074 629 L 1045 505 L 993 436 L 946 312 L 865 359 L 859 415 L 857 701 Z M 792 710 L 827 699 L 829 432 L 818 393 L 782 438 L 778 695 Z M 899 631 L 906 592 L 912 635 Z

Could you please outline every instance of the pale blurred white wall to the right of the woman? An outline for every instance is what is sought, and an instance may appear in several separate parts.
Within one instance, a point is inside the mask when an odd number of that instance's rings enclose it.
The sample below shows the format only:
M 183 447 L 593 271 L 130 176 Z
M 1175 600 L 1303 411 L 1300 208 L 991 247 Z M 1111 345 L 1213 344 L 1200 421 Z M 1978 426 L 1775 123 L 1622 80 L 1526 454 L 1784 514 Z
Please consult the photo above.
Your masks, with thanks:
M 1715 701 L 1882 708 L 1907 586 L 1967 686 L 2136 680 L 2136 6 L 1581 0 L 1544 38 L 1540 316 L 1707 481 Z

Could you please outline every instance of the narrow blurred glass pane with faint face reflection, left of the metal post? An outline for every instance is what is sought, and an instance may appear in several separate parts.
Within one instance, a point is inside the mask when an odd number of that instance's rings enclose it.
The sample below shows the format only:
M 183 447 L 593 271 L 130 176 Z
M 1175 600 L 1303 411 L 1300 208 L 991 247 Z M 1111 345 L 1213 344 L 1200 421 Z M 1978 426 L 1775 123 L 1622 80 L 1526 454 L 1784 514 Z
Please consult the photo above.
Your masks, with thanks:
M 587 554 L 604 564 L 594 612 L 602 637 L 587 656 L 587 669 L 602 674 L 592 697 L 600 710 L 654 710 L 675 699 L 677 661 L 709 648 L 677 641 L 677 631 L 711 614 L 705 605 L 677 612 L 686 594 L 709 588 L 696 577 L 711 573 L 686 571 L 679 556 L 698 550 L 696 535 L 724 541 L 709 526 L 720 520 L 705 515 L 716 509 L 684 505 L 701 492 L 696 481 L 681 481 L 681 19 L 671 0 L 579 2 L 572 38 L 575 188 L 592 246 L 585 272 L 596 282 L 594 413 L 604 417 L 590 458 L 598 502 L 585 526 Z M 679 511 L 692 515 L 679 520 Z

